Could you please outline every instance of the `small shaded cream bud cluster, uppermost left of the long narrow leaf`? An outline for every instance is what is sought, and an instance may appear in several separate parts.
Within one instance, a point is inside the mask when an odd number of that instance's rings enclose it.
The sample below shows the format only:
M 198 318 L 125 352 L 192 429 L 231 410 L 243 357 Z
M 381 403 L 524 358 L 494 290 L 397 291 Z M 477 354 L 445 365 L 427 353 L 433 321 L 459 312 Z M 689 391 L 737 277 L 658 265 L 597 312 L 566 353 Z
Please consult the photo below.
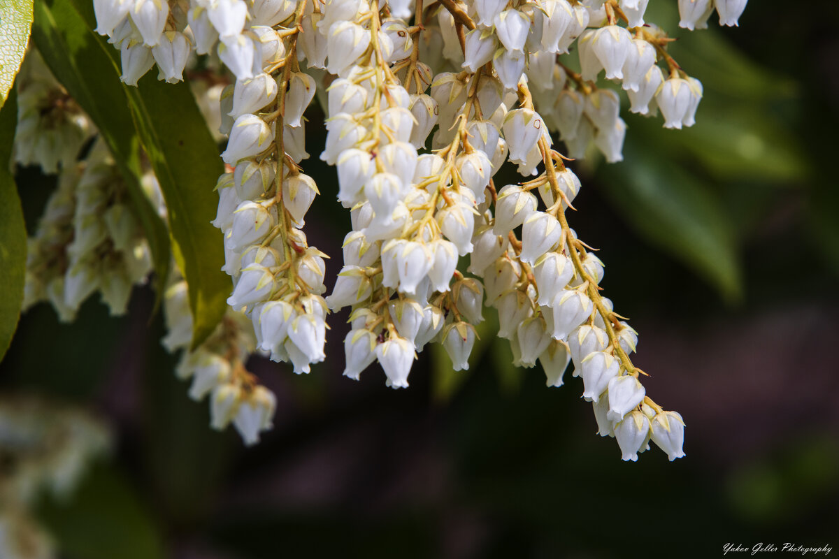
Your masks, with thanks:
M 39 165 L 44 173 L 72 168 L 91 137 L 90 119 L 55 81 L 34 49 L 27 52 L 16 83 L 14 160 L 21 165 Z

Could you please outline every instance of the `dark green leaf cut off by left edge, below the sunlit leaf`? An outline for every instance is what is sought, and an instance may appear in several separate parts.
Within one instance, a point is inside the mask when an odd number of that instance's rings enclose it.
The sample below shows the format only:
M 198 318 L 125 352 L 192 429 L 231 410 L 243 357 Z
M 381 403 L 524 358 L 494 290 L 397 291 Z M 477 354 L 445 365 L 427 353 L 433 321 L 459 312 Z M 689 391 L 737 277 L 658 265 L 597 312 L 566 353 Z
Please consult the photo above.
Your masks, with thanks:
M 18 104 L 14 91 L 0 110 L 0 360 L 6 355 L 18 328 L 23 304 L 26 270 L 26 224 L 18 198 L 18 187 L 8 171 L 12 157 L 14 129 L 18 123 Z

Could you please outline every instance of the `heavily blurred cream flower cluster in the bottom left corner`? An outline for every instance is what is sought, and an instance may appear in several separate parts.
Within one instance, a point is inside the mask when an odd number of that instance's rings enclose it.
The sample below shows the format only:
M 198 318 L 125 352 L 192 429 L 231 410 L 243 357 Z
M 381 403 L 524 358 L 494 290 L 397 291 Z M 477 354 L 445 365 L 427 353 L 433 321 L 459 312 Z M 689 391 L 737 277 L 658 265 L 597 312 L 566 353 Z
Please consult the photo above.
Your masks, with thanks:
M 39 500 L 67 497 L 111 446 L 107 428 L 81 410 L 29 397 L 0 401 L 0 556 L 57 556 L 34 515 Z

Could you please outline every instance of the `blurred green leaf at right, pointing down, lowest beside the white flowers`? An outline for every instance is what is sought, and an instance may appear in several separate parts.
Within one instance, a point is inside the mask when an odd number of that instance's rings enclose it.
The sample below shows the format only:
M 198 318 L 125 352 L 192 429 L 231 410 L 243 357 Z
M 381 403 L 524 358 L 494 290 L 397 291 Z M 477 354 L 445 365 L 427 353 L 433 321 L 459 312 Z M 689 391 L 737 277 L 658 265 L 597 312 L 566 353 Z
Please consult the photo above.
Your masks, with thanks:
M 603 188 L 629 225 L 706 278 L 727 301 L 741 296 L 734 236 L 717 199 L 694 177 L 649 152 L 602 168 Z

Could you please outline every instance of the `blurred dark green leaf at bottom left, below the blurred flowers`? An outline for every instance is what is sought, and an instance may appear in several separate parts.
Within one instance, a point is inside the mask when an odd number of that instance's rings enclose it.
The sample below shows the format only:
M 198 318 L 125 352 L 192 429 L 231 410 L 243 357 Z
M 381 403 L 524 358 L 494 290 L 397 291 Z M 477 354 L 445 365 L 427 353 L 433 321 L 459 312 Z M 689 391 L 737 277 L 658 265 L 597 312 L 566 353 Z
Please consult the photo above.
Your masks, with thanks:
M 68 559 L 162 559 L 161 538 L 128 480 L 113 468 L 89 472 L 68 502 L 49 501 L 39 519 Z

